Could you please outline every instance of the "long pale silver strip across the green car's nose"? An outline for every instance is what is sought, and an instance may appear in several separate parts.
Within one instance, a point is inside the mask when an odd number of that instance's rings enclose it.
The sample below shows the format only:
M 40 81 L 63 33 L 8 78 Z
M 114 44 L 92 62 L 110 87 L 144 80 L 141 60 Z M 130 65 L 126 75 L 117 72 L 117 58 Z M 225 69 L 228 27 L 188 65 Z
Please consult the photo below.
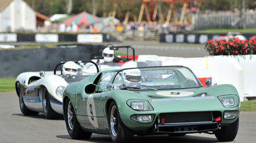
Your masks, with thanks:
M 153 102 L 163 101 L 188 101 L 188 100 L 213 100 L 215 97 L 185 97 L 185 98 L 165 98 L 165 99 L 152 99 Z

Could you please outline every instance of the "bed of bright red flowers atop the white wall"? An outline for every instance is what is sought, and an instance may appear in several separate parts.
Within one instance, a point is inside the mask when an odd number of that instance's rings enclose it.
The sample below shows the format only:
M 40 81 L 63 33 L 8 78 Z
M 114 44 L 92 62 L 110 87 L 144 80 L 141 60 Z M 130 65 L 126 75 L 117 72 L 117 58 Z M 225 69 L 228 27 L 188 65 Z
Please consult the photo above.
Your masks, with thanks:
M 204 49 L 210 55 L 245 55 L 256 54 L 256 35 L 249 40 L 208 40 Z

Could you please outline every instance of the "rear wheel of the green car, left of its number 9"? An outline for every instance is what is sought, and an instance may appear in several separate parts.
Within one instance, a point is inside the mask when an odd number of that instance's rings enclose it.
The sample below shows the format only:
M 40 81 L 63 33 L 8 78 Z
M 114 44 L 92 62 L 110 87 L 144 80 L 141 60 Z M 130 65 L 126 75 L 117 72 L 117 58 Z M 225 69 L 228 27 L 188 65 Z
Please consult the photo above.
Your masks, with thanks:
M 65 102 L 64 108 L 64 119 L 66 122 L 66 128 L 68 130 L 68 134 L 70 134 L 73 139 L 89 139 L 92 136 L 91 132 L 85 132 L 82 130 L 77 118 L 76 112 L 74 111 L 74 107 L 70 99 L 67 99 Z

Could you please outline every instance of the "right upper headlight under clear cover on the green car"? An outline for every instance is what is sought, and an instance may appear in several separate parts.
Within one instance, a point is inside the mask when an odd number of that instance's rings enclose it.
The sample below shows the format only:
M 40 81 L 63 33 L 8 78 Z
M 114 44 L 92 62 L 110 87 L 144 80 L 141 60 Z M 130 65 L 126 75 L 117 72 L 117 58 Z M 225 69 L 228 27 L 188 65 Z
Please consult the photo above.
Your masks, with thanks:
M 238 106 L 238 103 L 239 103 L 239 99 L 236 95 L 224 95 L 218 98 L 222 102 L 222 105 L 224 105 L 224 107 L 226 108 L 236 107 Z

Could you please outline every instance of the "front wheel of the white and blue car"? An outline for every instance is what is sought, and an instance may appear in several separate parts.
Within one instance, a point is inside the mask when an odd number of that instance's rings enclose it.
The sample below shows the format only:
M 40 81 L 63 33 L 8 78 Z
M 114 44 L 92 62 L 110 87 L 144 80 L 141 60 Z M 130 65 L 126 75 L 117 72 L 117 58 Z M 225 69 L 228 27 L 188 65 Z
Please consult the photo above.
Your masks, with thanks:
M 56 120 L 56 119 L 60 119 L 61 117 L 63 118 L 63 115 L 60 115 L 59 113 L 54 111 L 53 108 L 51 107 L 49 93 L 46 88 L 43 89 L 43 97 L 42 98 L 43 98 L 43 100 L 42 100 L 43 111 L 44 111 L 45 117 L 47 117 L 47 119 Z

